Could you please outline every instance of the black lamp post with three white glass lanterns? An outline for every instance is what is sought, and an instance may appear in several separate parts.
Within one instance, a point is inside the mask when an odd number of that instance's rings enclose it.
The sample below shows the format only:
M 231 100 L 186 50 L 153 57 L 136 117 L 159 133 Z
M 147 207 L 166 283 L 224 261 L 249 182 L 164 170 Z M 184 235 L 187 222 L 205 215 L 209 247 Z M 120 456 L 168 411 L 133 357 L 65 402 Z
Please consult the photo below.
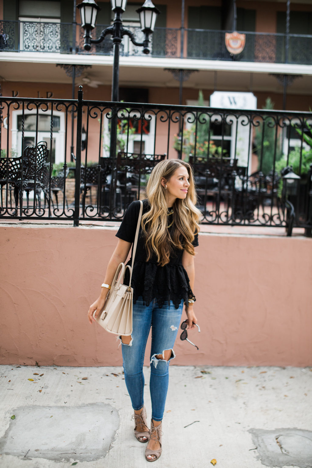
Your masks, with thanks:
M 133 33 L 129 29 L 123 27 L 121 15 L 126 9 L 127 0 L 110 0 L 110 2 L 112 11 L 115 13 L 114 22 L 112 26 L 102 30 L 101 36 L 98 37 L 98 39 L 92 39 L 91 31 L 95 27 L 96 16 L 100 7 L 98 7 L 94 0 L 83 0 L 82 3 L 77 5 L 77 8 L 79 8 L 80 11 L 81 27 L 85 30 L 83 47 L 86 51 L 91 49 L 91 44 L 100 44 L 108 34 L 112 36 L 114 44 L 114 65 L 111 100 L 116 102 L 119 101 L 119 47 L 122 38 L 128 36 L 132 44 L 143 47 L 143 52 L 148 54 L 150 52 L 149 36 L 154 31 L 155 22 L 160 11 L 153 5 L 152 0 L 145 0 L 142 7 L 138 8 L 137 13 L 145 37 L 143 42 L 137 42 Z

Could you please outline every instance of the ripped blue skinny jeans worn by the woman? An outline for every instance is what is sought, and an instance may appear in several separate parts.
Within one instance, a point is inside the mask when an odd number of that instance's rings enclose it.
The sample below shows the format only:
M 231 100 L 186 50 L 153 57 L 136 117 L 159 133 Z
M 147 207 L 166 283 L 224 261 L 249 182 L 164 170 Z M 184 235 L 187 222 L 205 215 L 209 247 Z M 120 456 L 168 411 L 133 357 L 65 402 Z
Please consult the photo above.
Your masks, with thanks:
M 173 347 L 182 309 L 183 300 L 178 309 L 172 302 L 169 308 L 167 305 L 159 308 L 156 299 L 149 306 L 145 306 L 142 297 L 139 297 L 136 304 L 133 304 L 131 342 L 130 344 L 122 343 L 124 380 L 133 409 L 141 409 L 144 404 L 143 361 L 147 337 L 152 326 L 150 392 L 152 419 L 155 421 L 161 421 L 164 413 L 168 389 L 168 367 L 170 359 L 175 357 Z M 168 361 L 156 358 L 158 354 L 163 355 L 166 350 L 171 350 L 171 357 Z

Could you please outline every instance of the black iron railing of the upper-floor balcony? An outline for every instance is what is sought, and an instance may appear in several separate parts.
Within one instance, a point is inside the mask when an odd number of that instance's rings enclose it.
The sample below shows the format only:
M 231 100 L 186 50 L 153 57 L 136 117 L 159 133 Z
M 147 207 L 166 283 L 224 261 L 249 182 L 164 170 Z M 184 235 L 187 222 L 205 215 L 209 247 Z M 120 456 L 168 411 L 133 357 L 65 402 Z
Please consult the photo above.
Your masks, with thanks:
M 108 25 L 97 25 L 92 37 L 98 37 Z M 138 41 L 142 32 L 131 26 Z M 272 33 L 245 32 L 244 50 L 231 56 L 225 47 L 225 32 L 208 29 L 185 29 L 183 58 L 203 60 L 236 60 L 246 62 L 312 64 L 312 35 L 289 35 L 286 54 L 286 35 Z M 243 31 L 241 31 L 243 32 Z M 152 36 L 152 57 L 180 57 L 180 29 L 155 28 Z M 14 52 L 61 52 L 111 55 L 113 44 L 108 36 L 92 48 L 83 49 L 83 30 L 72 23 L 0 21 L 0 51 Z M 73 37 L 75 40 L 73 41 Z M 121 55 L 143 55 L 142 48 L 131 44 L 128 37 L 123 38 Z

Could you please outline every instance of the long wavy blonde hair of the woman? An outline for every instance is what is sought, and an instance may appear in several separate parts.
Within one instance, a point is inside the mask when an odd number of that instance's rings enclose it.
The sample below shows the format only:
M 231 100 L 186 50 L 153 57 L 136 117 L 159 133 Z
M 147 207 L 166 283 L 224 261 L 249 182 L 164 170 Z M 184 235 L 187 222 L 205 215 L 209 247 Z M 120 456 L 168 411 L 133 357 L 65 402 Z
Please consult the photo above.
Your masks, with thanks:
M 185 167 L 189 173 L 189 188 L 186 198 L 176 198 L 173 205 L 174 230 L 170 235 L 167 229 L 167 204 L 165 185 L 173 176 L 176 169 Z M 195 234 L 199 232 L 199 220 L 201 212 L 196 208 L 197 196 L 193 171 L 189 163 L 181 160 L 168 159 L 160 161 L 152 170 L 146 186 L 146 194 L 150 204 L 150 210 L 142 216 L 142 229 L 146 236 L 147 261 L 153 254 L 157 257 L 157 263 L 164 266 L 169 263 L 172 249 L 185 249 L 190 255 L 195 255 Z

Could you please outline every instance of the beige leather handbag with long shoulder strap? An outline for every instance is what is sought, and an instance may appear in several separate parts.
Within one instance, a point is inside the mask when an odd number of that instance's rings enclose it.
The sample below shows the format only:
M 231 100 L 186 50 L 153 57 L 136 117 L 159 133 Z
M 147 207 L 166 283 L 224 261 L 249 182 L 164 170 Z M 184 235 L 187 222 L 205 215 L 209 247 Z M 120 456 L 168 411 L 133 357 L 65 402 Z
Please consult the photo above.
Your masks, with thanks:
M 143 212 L 143 202 L 140 201 L 140 204 L 141 206 L 138 215 L 138 225 L 133 243 L 131 266 L 125 266 L 124 263 L 119 263 L 111 284 L 111 288 L 106 297 L 104 307 L 100 311 L 100 314 L 97 317 L 94 317 L 95 321 L 98 322 L 101 327 L 103 327 L 109 333 L 115 333 L 116 335 L 129 336 L 132 333 L 133 289 L 131 288 L 131 278 L 134 257 L 138 243 L 138 232 L 140 229 Z M 127 268 L 130 270 L 129 286 L 123 284 L 124 273 Z

